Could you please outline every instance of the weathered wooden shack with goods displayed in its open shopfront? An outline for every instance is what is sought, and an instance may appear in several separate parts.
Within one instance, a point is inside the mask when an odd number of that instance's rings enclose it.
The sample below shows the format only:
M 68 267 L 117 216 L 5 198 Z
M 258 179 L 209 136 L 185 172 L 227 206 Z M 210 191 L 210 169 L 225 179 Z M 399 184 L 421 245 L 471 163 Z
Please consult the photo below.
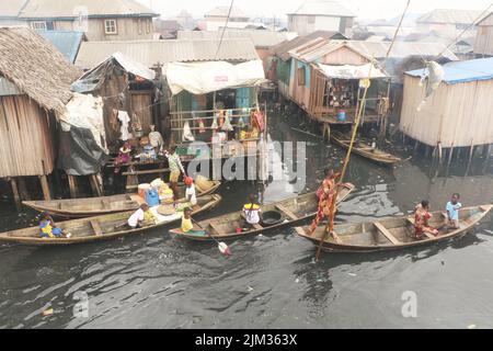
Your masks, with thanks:
M 377 61 L 348 42 L 317 38 L 289 52 L 293 58 L 289 98 L 307 115 L 323 123 L 353 124 L 362 99 L 362 80 L 370 79 L 362 123 L 382 122 L 388 111 L 390 79 Z

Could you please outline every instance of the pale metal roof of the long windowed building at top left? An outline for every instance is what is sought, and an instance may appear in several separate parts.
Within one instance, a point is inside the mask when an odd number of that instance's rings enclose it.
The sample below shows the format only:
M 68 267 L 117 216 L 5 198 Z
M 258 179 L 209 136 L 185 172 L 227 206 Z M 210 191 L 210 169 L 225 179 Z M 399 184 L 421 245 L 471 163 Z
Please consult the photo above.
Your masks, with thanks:
M 30 0 L 21 11 L 22 19 L 58 19 L 79 16 L 87 9 L 89 16 L 158 15 L 135 0 Z

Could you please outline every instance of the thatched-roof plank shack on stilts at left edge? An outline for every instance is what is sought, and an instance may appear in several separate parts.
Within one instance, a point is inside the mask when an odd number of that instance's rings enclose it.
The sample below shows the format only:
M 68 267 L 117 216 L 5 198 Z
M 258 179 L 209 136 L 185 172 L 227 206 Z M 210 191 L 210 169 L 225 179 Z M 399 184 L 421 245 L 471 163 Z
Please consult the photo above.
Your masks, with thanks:
M 39 34 L 27 27 L 0 29 L 0 179 L 12 184 L 16 201 L 25 178 L 37 177 L 50 199 L 47 176 L 55 169 L 57 118 L 80 75 Z

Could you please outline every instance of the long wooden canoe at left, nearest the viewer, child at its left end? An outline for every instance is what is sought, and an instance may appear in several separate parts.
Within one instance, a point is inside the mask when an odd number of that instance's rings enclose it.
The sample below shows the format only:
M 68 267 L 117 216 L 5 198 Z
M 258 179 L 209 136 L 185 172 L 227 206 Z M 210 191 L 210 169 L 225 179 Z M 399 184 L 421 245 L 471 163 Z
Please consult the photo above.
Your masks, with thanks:
M 206 195 L 197 199 L 198 208 L 193 213 L 198 215 L 205 211 L 215 207 L 221 201 L 221 196 L 218 194 Z M 157 208 L 151 208 L 154 214 Z M 129 236 L 133 234 L 140 234 L 147 230 L 160 228 L 172 223 L 181 220 L 181 214 L 173 216 L 160 216 L 158 223 L 145 225 L 142 228 L 130 229 L 126 223 L 134 211 L 119 212 L 98 217 L 71 219 L 67 222 L 57 223 L 57 226 L 64 230 L 64 233 L 70 233 L 71 238 L 53 238 L 43 239 L 39 237 L 39 228 L 30 227 L 19 230 L 0 233 L 0 242 L 16 242 L 25 245 L 39 245 L 39 246 L 60 246 L 60 245 L 73 245 L 91 241 L 102 241 L 114 239 L 118 237 Z

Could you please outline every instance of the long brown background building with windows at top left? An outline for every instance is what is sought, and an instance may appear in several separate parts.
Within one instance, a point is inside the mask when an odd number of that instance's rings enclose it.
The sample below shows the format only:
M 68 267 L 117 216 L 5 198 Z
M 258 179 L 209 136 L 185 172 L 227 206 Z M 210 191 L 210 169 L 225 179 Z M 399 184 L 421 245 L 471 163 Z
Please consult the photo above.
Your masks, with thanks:
M 89 41 L 152 39 L 152 10 L 135 0 L 28 0 L 19 19 L 36 31 L 84 32 Z

